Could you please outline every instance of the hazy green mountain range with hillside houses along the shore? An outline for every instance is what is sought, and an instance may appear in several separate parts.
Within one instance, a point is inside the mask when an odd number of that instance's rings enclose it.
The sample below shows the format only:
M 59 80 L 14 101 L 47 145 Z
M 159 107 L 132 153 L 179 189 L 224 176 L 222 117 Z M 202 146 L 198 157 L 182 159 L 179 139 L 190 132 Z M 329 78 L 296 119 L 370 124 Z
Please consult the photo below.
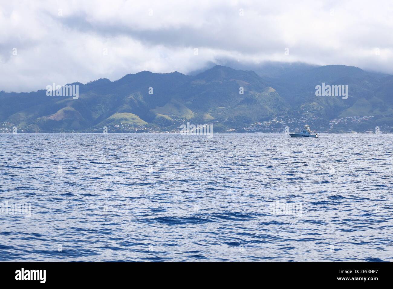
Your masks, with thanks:
M 269 67 L 274 64 L 270 64 Z M 284 68 L 283 68 L 284 67 Z M 180 125 L 213 123 L 215 132 L 281 132 L 308 120 L 320 131 L 390 132 L 393 75 L 351 66 L 285 66 L 266 76 L 216 65 L 196 75 L 127 74 L 79 85 L 79 98 L 0 92 L 0 131 L 24 133 L 176 132 Z M 279 73 L 278 73 L 279 72 Z M 349 97 L 315 96 L 316 85 L 348 85 Z M 383 130 L 382 130 L 383 131 Z

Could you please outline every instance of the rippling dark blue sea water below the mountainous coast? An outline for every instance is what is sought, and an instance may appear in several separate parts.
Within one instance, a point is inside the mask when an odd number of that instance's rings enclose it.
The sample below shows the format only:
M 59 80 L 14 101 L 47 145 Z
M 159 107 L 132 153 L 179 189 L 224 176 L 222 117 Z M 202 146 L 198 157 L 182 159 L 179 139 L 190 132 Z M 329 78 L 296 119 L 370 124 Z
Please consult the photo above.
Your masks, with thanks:
M 319 136 L 0 134 L 0 260 L 393 261 L 393 135 Z

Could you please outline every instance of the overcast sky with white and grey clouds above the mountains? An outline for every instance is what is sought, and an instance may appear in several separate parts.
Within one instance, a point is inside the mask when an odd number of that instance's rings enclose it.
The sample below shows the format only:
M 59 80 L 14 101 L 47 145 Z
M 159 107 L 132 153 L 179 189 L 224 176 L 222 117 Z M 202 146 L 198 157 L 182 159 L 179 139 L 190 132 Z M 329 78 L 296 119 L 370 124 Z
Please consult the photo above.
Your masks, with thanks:
M 391 0 L 0 0 L 0 90 L 187 74 L 223 59 L 393 74 L 392 15 Z

